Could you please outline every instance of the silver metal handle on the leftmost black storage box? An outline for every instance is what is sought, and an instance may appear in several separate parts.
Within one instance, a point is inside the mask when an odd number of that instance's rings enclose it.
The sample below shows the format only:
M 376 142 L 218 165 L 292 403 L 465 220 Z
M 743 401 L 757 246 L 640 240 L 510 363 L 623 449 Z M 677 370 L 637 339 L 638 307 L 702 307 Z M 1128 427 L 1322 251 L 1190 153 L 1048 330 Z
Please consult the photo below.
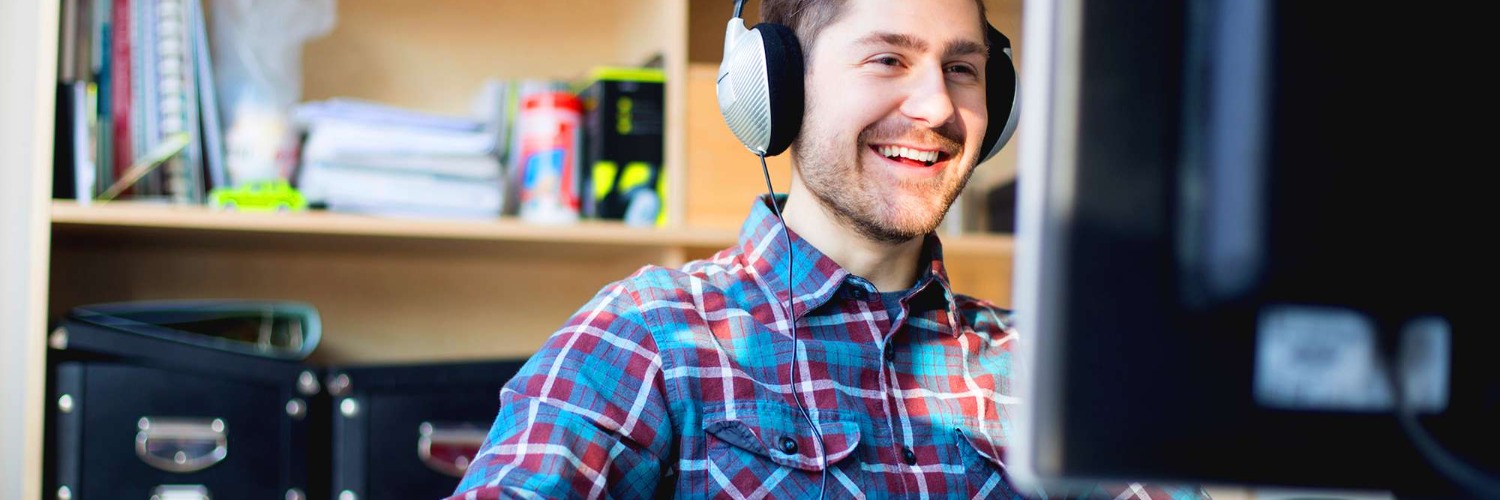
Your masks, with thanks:
M 200 471 L 230 455 L 224 419 L 141 417 L 135 428 L 135 456 L 165 471 Z

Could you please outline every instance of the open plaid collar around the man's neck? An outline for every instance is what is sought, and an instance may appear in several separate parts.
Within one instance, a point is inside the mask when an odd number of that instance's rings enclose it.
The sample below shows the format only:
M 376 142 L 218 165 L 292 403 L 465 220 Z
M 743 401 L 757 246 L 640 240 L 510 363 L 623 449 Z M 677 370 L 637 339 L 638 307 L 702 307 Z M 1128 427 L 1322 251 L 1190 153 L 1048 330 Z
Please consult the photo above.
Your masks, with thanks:
M 795 311 L 801 315 L 832 299 L 844 281 L 850 281 L 850 285 L 855 287 L 868 285 L 864 279 L 854 282 L 850 279 L 854 275 L 832 261 L 832 258 L 828 258 L 828 255 L 824 255 L 812 243 L 796 236 L 796 231 L 788 230 L 792 239 L 792 246 L 788 249 L 786 239 L 782 237 L 782 219 L 771 210 L 771 200 L 768 195 L 756 198 L 750 207 L 750 218 L 740 228 L 740 249 L 746 257 L 746 263 L 752 273 L 759 275 L 765 281 L 771 294 L 778 300 L 786 300 L 788 282 L 790 282 L 790 290 L 796 297 Z M 774 200 L 777 204 L 784 206 L 786 195 L 777 195 Z M 928 233 L 924 237 L 920 258 L 920 266 L 926 272 L 916 279 L 908 300 L 918 294 L 940 299 L 950 318 L 957 317 L 957 302 L 954 300 L 952 287 L 948 282 L 948 270 L 942 263 L 942 242 L 939 242 L 936 234 Z M 794 266 L 790 276 L 788 276 L 786 270 L 788 260 Z M 954 336 L 958 335 L 958 329 L 951 330 Z

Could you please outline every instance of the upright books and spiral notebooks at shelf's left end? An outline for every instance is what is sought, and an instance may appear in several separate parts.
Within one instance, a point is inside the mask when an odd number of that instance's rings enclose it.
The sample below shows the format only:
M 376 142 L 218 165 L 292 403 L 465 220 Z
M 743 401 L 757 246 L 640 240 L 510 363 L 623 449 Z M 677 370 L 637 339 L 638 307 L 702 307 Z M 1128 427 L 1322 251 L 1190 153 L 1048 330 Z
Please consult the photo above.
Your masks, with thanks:
M 202 203 L 225 183 L 200 0 L 62 0 L 60 27 L 56 198 L 88 203 L 180 140 L 129 197 Z

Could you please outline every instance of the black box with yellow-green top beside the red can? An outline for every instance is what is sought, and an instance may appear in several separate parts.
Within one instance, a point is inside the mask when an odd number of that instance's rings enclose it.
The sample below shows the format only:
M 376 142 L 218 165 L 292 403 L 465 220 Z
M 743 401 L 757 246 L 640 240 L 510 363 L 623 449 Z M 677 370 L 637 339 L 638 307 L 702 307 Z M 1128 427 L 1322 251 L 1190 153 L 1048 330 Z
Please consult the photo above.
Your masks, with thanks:
M 651 68 L 597 68 L 584 99 L 584 168 L 579 200 L 586 218 L 663 224 L 666 74 Z

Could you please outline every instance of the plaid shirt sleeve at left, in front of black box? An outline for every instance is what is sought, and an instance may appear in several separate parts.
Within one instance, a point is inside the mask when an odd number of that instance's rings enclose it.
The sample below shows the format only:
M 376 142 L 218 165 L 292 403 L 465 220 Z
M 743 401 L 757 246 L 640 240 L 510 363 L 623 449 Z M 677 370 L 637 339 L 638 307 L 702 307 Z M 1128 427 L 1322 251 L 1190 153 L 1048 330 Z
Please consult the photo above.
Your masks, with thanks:
M 670 450 L 662 357 L 627 282 L 604 287 L 500 392 L 450 498 L 651 497 Z

